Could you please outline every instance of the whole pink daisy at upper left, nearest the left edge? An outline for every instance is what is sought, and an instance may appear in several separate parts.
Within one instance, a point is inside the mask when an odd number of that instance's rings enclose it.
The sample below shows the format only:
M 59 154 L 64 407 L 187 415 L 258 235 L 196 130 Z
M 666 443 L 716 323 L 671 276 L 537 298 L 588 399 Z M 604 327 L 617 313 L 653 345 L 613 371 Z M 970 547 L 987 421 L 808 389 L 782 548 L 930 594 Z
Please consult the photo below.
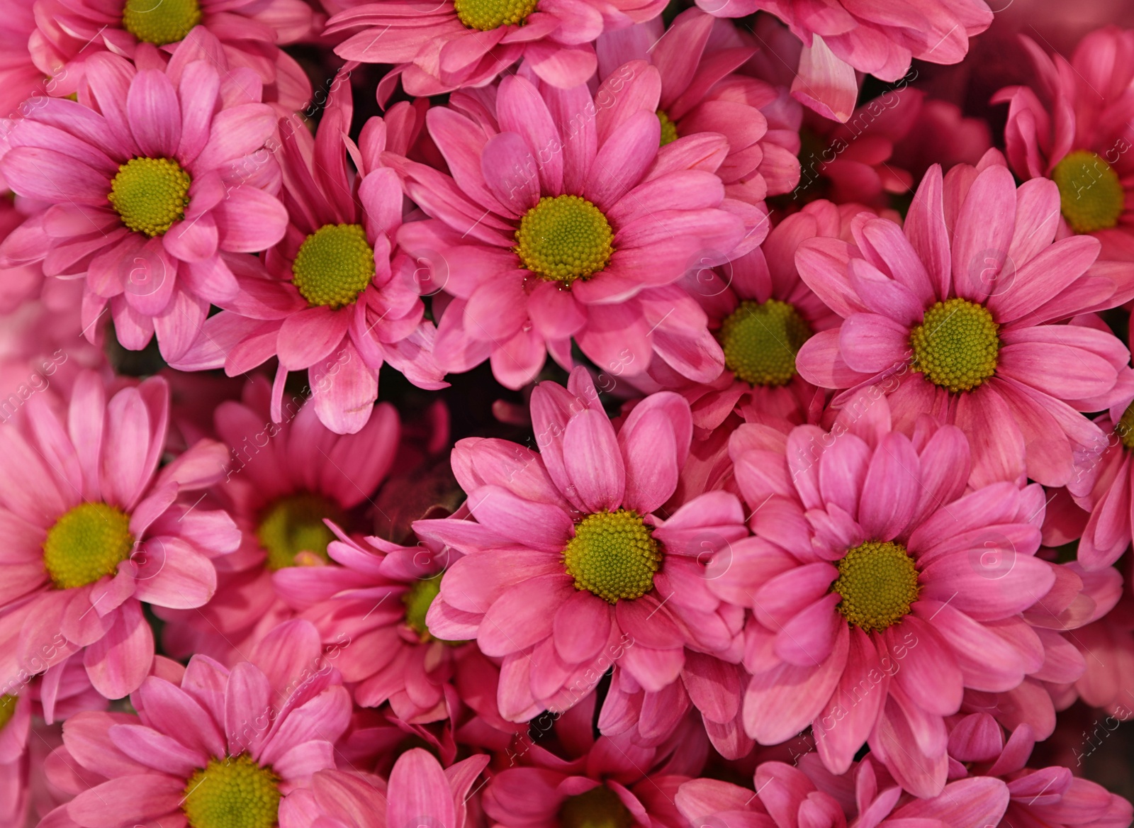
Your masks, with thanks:
M 85 277 L 87 338 L 109 304 L 125 347 L 156 332 L 170 362 L 210 303 L 237 292 L 221 251 L 264 250 L 287 225 L 272 195 L 279 170 L 262 149 L 276 118 L 248 100 L 247 78 L 218 71 L 201 45 L 209 37 L 184 42 L 166 70 L 93 56 L 81 101 L 43 101 L 0 160 L 17 194 L 48 205 L 0 245 L 0 267 L 42 260 L 49 277 Z

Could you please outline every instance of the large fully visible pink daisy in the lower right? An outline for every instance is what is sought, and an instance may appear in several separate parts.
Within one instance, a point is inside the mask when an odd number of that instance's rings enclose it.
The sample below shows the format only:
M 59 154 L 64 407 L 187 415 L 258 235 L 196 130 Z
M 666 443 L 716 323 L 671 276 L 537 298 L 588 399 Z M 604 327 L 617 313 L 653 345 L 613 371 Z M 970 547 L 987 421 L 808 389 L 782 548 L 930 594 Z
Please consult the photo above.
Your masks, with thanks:
M 1040 641 L 1017 616 L 1056 576 L 1034 557 L 1041 487 L 966 493 L 959 429 L 925 416 L 911 439 L 890 420 L 877 394 L 829 432 L 742 425 L 730 449 L 755 538 L 714 560 L 706 583 L 753 610 L 751 736 L 778 744 L 811 724 L 835 774 L 869 741 L 902 787 L 936 796 L 942 717 L 966 687 L 1008 691 L 1040 668 Z M 992 566 L 991 549 L 1010 566 Z

